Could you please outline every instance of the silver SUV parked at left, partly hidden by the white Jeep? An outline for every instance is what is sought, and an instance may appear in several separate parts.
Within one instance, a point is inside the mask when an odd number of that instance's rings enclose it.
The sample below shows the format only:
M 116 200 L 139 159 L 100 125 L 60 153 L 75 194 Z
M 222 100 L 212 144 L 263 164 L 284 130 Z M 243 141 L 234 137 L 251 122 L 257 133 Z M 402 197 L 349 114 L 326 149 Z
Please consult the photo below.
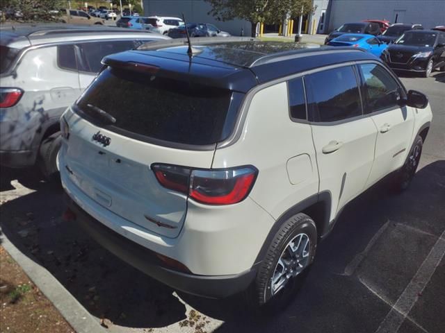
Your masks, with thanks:
M 165 39 L 105 27 L 2 28 L 0 164 L 29 167 L 37 162 L 44 176 L 54 175 L 60 115 L 95 78 L 102 58 Z

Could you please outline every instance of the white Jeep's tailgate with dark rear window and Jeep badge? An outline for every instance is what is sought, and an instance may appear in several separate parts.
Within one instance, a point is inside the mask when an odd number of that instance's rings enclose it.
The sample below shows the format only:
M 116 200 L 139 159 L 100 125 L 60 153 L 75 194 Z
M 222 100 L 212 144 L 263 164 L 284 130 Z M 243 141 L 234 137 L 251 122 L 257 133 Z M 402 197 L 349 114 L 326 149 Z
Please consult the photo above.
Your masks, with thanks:
M 142 228 L 177 237 L 187 195 L 165 189 L 154 163 L 210 168 L 232 92 L 105 69 L 71 117 L 66 176 L 90 199 Z M 95 108 L 115 123 L 104 123 Z

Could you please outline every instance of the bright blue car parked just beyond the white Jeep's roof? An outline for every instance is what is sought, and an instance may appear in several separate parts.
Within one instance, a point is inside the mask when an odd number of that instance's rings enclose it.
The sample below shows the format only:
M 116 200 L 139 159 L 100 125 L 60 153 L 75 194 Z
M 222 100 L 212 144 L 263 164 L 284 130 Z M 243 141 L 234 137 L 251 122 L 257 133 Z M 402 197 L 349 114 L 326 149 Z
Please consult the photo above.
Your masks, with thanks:
M 380 42 L 375 36 L 362 33 L 345 33 L 334 38 L 327 45 L 359 47 L 373 53 L 378 58 L 380 58 L 382 51 L 388 47 L 388 44 Z

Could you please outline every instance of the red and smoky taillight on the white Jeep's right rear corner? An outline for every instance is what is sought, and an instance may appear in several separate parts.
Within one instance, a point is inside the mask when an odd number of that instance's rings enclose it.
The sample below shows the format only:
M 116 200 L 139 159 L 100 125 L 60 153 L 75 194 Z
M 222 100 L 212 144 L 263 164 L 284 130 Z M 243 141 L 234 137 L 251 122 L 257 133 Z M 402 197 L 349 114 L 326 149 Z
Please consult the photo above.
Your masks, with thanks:
M 258 171 L 254 167 L 193 170 L 165 164 L 152 165 L 159 183 L 208 205 L 232 205 L 244 200 Z

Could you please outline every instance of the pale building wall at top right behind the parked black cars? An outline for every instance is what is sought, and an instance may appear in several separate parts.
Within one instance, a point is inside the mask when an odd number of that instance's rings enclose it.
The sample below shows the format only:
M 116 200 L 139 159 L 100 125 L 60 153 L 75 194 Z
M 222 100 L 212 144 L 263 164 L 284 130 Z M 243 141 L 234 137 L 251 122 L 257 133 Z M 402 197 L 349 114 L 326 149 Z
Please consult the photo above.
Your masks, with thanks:
M 445 24 L 445 0 L 330 0 L 329 31 L 347 22 L 388 19 L 420 23 L 423 28 Z

